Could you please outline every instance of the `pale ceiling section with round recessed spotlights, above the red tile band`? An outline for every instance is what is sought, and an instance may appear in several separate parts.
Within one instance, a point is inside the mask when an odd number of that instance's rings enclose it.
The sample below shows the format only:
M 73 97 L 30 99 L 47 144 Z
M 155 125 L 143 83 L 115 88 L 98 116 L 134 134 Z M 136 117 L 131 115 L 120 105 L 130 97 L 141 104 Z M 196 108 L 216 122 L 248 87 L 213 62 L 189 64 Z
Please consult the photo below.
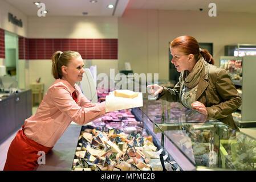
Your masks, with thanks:
M 18 10 L 29 16 L 36 16 L 39 8 L 31 0 L 5 0 Z M 129 0 L 97 0 L 91 3 L 90 0 L 43 0 L 42 2 L 48 11 L 47 16 L 121 16 Z M 116 8 L 109 9 L 108 5 L 116 5 Z

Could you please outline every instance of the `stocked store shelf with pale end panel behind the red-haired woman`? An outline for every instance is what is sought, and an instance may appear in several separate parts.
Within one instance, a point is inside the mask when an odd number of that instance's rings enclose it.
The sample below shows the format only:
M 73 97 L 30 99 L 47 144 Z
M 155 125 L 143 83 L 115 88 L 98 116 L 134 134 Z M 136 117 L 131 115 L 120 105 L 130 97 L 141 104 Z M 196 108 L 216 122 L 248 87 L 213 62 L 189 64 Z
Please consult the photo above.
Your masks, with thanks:
M 241 118 L 236 119 L 236 123 L 239 127 L 253 127 L 253 121 L 256 121 L 254 109 L 256 102 L 256 82 L 254 79 L 256 56 L 221 56 L 220 60 L 220 67 L 226 69 L 231 79 L 234 79 L 231 81 L 242 98 L 242 105 L 238 108 L 238 111 L 241 111 Z M 232 62 L 234 60 L 235 63 Z M 242 60 L 241 64 L 240 60 Z

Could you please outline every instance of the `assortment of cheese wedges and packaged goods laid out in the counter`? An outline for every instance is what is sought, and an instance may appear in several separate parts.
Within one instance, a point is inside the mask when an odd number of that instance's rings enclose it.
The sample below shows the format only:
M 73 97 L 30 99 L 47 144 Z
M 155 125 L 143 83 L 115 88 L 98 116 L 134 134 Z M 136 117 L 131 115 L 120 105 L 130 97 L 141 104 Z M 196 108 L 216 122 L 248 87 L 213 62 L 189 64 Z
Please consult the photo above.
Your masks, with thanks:
M 147 135 L 143 129 L 143 123 L 129 118 L 128 115 L 131 115 L 131 110 L 113 111 L 104 118 L 92 121 L 90 126 L 83 126 L 72 170 L 160 170 L 153 164 L 157 161 L 161 165 L 159 154 L 162 150 L 157 151 L 155 143 L 152 142 L 152 135 Z M 121 122 L 116 122 L 116 119 Z M 127 130 L 131 127 L 136 131 Z M 176 167 L 173 167 L 172 170 L 175 169 Z

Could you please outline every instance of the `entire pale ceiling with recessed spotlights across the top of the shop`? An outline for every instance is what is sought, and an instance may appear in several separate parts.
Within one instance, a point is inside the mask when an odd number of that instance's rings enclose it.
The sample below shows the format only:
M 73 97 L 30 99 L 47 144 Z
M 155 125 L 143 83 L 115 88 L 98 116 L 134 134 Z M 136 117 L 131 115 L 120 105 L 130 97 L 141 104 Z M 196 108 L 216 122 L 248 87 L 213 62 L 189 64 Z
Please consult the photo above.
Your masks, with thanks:
M 3 0 L 1 0 L 3 1 Z M 32 0 L 5 0 L 23 13 L 36 16 L 38 7 Z M 217 12 L 256 13 L 255 0 L 42 0 L 48 10 L 47 16 L 122 16 L 125 9 L 157 9 L 157 10 L 209 10 L 209 3 L 217 5 Z M 116 5 L 109 9 L 109 4 Z

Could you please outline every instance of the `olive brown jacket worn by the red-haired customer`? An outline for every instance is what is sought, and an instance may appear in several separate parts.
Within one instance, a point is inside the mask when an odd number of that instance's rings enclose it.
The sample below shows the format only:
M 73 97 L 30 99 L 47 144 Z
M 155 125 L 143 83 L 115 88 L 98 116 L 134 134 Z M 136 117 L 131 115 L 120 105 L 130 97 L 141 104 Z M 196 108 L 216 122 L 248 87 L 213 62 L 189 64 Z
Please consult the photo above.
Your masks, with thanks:
M 163 86 L 164 90 L 159 94 L 157 100 L 161 98 L 170 102 L 181 101 L 181 92 L 184 86 L 184 81 L 181 79 L 182 73 L 173 89 Z M 215 67 L 209 63 L 204 64 L 197 87 L 196 101 L 206 106 L 208 117 L 218 119 L 239 130 L 231 113 L 241 106 L 242 99 L 225 69 Z

